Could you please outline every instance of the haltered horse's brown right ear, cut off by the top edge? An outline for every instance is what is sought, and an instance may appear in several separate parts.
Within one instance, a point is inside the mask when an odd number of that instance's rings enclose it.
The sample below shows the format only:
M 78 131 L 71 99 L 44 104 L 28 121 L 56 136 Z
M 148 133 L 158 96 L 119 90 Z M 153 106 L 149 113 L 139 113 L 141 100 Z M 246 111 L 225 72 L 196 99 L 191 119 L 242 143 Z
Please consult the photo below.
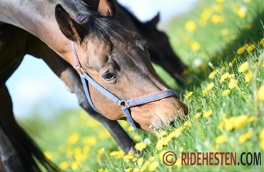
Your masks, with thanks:
M 100 0 L 98 5 L 98 12 L 102 16 L 116 17 L 116 6 L 113 0 Z

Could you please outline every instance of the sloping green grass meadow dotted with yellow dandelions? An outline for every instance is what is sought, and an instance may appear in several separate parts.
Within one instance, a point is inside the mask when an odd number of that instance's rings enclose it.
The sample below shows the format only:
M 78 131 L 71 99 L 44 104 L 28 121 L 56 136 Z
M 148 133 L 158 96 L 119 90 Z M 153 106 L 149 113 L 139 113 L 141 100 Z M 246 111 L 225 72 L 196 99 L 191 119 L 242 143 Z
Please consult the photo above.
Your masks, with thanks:
M 264 4 L 263 1 L 201 1 L 171 21 L 174 51 L 189 66 L 184 88 L 154 64 L 188 105 L 186 122 L 157 136 L 123 128 L 139 154 L 124 153 L 100 123 L 83 110 L 61 111 L 50 121 L 20 121 L 62 171 L 263 171 Z M 164 159 L 164 153 L 176 154 Z M 236 153 L 240 165 L 184 165 L 184 153 Z M 240 155 L 260 153 L 261 166 L 241 164 Z M 243 157 L 244 161 L 245 156 Z M 223 158 L 230 162 L 230 157 Z M 168 164 L 176 161 L 176 163 Z

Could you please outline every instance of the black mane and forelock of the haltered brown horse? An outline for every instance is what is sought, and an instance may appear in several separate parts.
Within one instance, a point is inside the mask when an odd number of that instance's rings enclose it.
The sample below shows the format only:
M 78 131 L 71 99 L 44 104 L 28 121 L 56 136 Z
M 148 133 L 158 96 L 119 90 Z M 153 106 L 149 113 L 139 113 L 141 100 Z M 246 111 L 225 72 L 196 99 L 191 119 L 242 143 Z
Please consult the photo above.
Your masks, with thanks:
M 121 26 L 121 24 L 115 19 L 111 19 L 111 17 L 101 16 L 98 11 L 89 10 L 87 4 L 85 4 L 83 0 L 64 0 L 64 4 L 76 16 L 88 16 L 88 34 L 92 39 L 96 38 L 106 43 L 109 43 L 111 38 L 117 39 L 118 41 L 129 39 L 128 30 Z

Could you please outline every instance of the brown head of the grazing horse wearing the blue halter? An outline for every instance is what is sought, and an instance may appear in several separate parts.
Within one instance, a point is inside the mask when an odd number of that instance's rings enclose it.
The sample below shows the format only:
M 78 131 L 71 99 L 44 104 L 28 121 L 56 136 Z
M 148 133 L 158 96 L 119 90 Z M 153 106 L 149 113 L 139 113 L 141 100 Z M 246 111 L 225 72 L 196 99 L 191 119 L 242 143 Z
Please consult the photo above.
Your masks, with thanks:
M 161 96 L 168 93 L 168 86 L 151 65 L 146 41 L 112 19 L 115 12 L 109 1 L 99 4 L 98 11 L 81 14 L 85 17 L 76 22 L 61 5 L 55 9 L 62 33 L 74 42 L 76 70 L 97 84 L 88 80 L 94 108 L 111 120 L 131 118 L 136 126 L 150 133 L 154 133 L 153 128 L 163 128 L 163 123 L 183 120 L 188 114 L 187 106 L 175 94 Z M 151 100 L 145 101 L 148 98 Z M 129 106 L 131 102 L 133 106 Z

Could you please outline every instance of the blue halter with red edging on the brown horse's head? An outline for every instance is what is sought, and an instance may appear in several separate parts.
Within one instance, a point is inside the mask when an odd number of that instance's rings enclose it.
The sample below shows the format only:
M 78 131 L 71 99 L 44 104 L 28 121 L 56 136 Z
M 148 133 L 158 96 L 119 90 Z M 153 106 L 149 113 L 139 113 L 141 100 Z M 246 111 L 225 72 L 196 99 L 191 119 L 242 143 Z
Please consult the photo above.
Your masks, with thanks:
M 78 16 L 76 21 L 79 24 L 81 24 L 81 21 L 85 20 L 87 17 L 88 16 L 80 15 L 80 16 Z M 86 98 L 87 98 L 88 102 L 91 104 L 91 106 L 93 107 L 94 111 L 100 113 L 96 109 L 96 107 L 93 105 L 93 101 L 91 101 L 91 95 L 89 93 L 88 83 L 90 83 L 92 86 L 97 88 L 98 91 L 101 91 L 101 93 L 103 93 L 103 95 L 105 95 L 109 99 L 111 99 L 111 101 L 113 101 L 114 103 L 121 106 L 121 108 L 123 109 L 123 112 L 126 115 L 126 118 L 128 119 L 128 122 L 131 124 L 131 126 L 133 126 L 133 128 L 136 131 L 139 130 L 139 128 L 138 128 L 137 123 L 133 120 L 133 118 L 131 116 L 131 111 L 129 110 L 129 108 L 134 107 L 134 106 L 141 106 L 143 104 L 151 103 L 153 101 L 158 101 L 158 100 L 161 100 L 163 98 L 170 97 L 170 96 L 176 96 L 178 98 L 178 94 L 176 93 L 176 91 L 168 89 L 165 91 L 160 91 L 158 93 L 148 94 L 147 96 L 141 96 L 141 97 L 132 98 L 129 100 L 122 100 L 121 98 L 118 98 L 118 96 L 116 96 L 113 93 L 111 93 L 110 91 L 108 91 L 106 88 L 103 88 L 103 86 L 98 84 L 96 81 L 94 81 L 91 78 L 91 76 L 89 76 L 86 73 L 86 71 L 81 67 L 80 61 L 78 60 L 78 55 L 76 53 L 75 43 L 73 41 L 71 42 L 71 48 L 73 51 L 74 60 L 76 62 L 76 67 L 78 68 L 79 74 L 81 76 L 81 82 L 83 83 L 83 89 L 84 89 L 84 92 L 86 93 Z

